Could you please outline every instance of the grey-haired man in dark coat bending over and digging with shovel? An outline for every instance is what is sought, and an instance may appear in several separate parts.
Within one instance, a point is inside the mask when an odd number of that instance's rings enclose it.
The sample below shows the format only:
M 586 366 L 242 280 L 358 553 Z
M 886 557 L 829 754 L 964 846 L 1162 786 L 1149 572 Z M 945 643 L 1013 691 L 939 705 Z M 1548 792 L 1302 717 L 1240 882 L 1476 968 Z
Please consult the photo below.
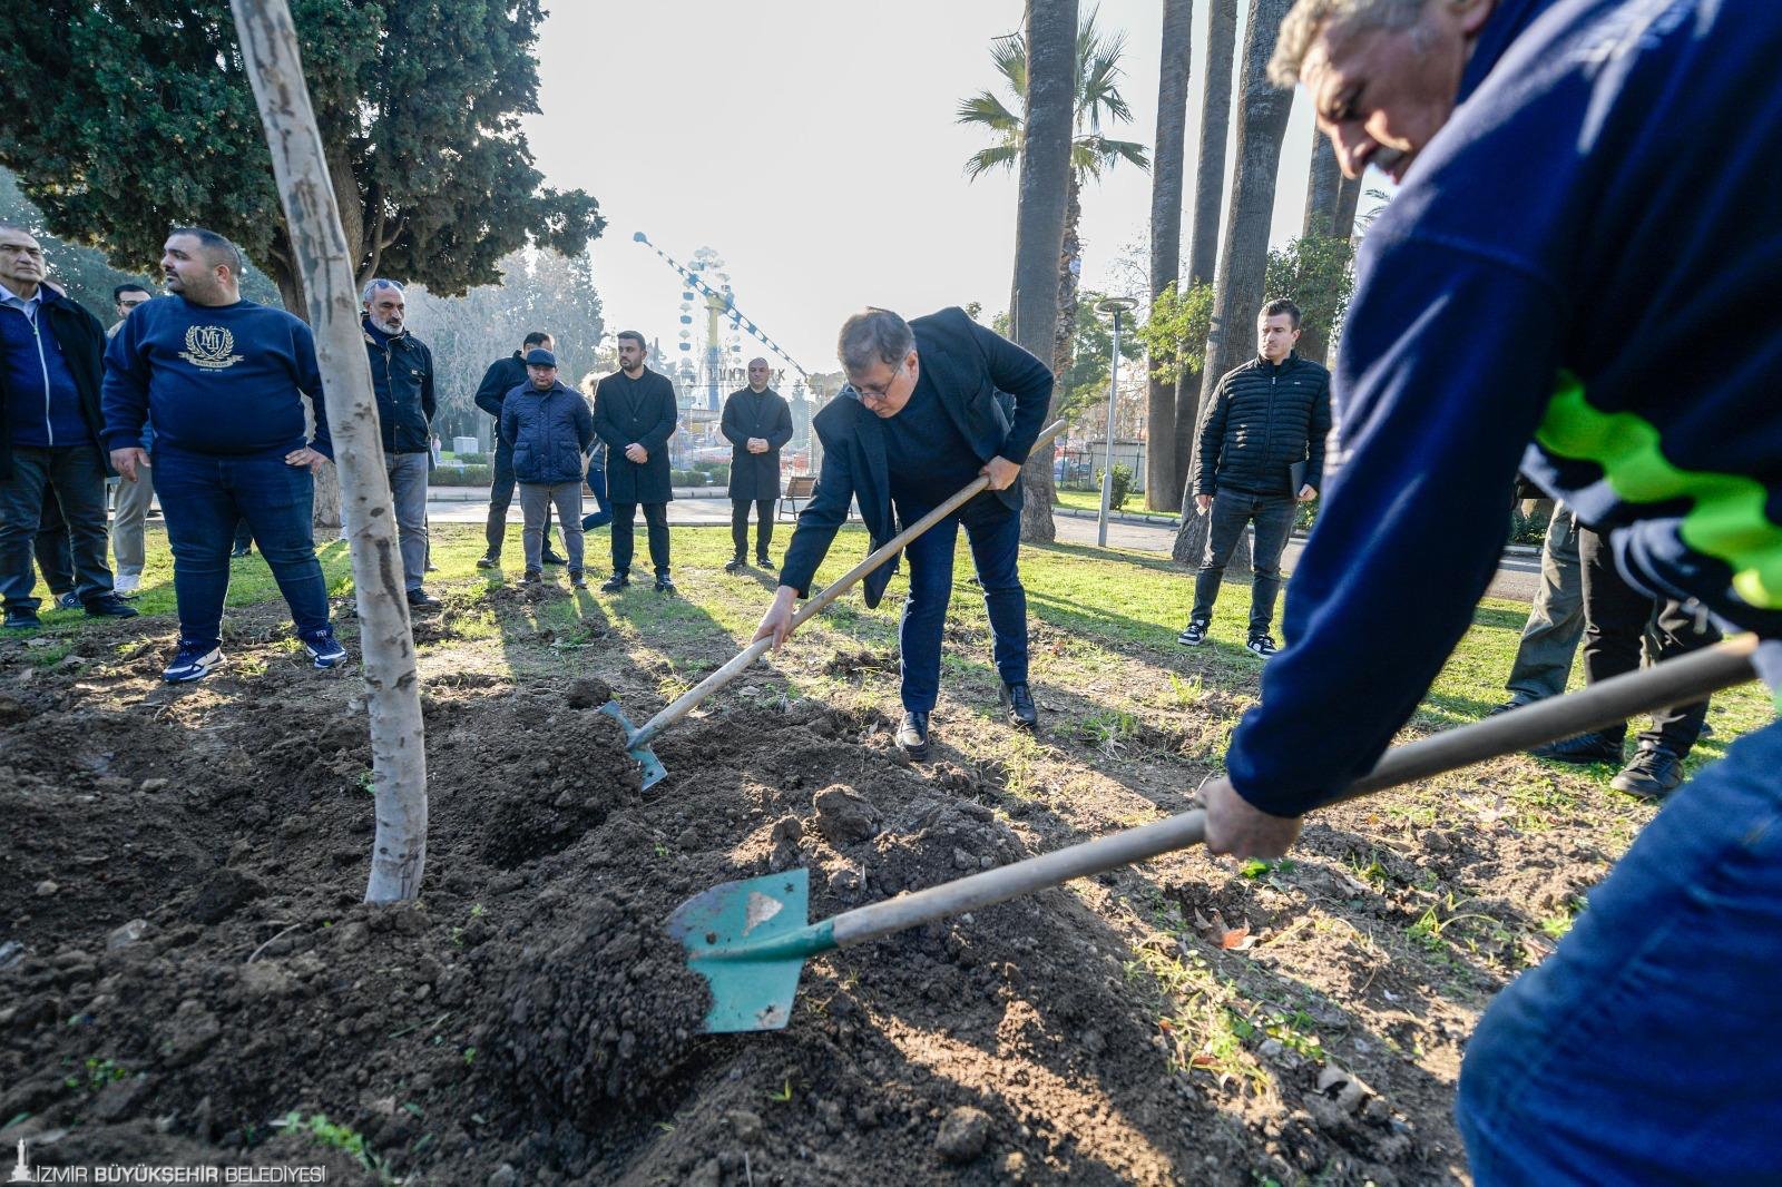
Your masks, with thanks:
M 985 474 L 989 490 L 907 549 L 909 597 L 898 629 L 903 724 L 896 743 L 914 759 L 928 756 L 960 524 L 989 611 L 1003 713 L 1012 725 L 1034 729 L 1039 713 L 1026 688 L 1026 592 L 1016 565 L 1018 479 L 1051 405 L 1051 369 L 959 308 L 914 323 L 884 308 L 861 310 L 841 326 L 838 353 L 848 389 L 813 422 L 823 442 L 823 471 L 816 497 L 798 517 L 781 586 L 756 638 L 772 638 L 775 647 L 786 642 L 793 602 L 809 595 L 811 577 L 855 497 L 879 547 Z M 1010 396 L 1012 413 L 1005 403 Z M 868 574 L 868 606 L 884 597 L 893 569 Z

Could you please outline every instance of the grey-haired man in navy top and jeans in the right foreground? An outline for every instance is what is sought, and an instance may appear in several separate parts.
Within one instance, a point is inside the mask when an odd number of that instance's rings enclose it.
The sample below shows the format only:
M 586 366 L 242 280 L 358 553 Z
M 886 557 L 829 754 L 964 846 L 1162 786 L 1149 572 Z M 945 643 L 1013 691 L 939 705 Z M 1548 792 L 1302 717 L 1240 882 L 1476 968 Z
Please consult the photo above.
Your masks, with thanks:
M 1490 583 L 1518 463 L 1638 588 L 1768 640 L 1782 681 L 1778 61 L 1773 4 L 1288 14 L 1272 77 L 1306 84 L 1345 173 L 1402 189 L 1361 250 L 1344 465 L 1208 848 L 1283 852 L 1379 757 Z M 1782 1182 L 1778 770 L 1771 724 L 1698 772 L 1486 1012 L 1458 1105 L 1479 1183 Z

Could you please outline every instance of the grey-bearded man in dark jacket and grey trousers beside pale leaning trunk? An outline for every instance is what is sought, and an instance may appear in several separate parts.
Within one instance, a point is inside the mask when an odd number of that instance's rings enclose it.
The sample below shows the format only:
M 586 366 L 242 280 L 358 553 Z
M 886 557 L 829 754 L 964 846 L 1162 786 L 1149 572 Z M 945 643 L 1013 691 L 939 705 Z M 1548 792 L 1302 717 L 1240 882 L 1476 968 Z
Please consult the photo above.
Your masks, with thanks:
M 438 610 L 440 599 L 421 586 L 428 572 L 428 462 L 433 456 L 437 408 L 433 351 L 403 326 L 408 315 L 403 285 L 371 280 L 360 303 L 365 308 L 360 328 L 371 362 L 371 390 L 378 397 L 378 424 L 383 428 L 383 469 L 396 503 L 408 604 Z

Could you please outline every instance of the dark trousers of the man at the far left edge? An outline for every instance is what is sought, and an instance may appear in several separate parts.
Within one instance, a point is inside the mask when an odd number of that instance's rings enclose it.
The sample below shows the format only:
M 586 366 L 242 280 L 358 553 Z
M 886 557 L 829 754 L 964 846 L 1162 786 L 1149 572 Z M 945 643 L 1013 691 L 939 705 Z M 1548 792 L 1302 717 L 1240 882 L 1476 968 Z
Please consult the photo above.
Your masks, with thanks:
M 110 594 L 105 565 L 105 467 L 93 446 L 16 446 L 12 476 L 0 479 L 0 601 L 7 610 L 37 610 L 32 549 L 43 529 L 43 501 L 53 494 L 68 540 L 73 588 L 80 601 Z M 46 574 L 55 579 L 59 574 Z

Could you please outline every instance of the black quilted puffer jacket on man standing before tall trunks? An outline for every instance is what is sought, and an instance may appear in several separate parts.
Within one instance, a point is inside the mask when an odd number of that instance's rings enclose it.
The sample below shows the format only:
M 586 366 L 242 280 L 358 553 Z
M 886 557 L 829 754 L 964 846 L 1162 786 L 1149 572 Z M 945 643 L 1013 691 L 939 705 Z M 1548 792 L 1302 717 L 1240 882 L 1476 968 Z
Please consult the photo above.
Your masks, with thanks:
M 1214 390 L 1201 419 L 1194 494 L 1297 495 L 1288 472 L 1296 462 L 1306 463 L 1304 485 L 1319 490 L 1329 430 L 1331 372 L 1299 355 L 1279 365 L 1258 355 Z

